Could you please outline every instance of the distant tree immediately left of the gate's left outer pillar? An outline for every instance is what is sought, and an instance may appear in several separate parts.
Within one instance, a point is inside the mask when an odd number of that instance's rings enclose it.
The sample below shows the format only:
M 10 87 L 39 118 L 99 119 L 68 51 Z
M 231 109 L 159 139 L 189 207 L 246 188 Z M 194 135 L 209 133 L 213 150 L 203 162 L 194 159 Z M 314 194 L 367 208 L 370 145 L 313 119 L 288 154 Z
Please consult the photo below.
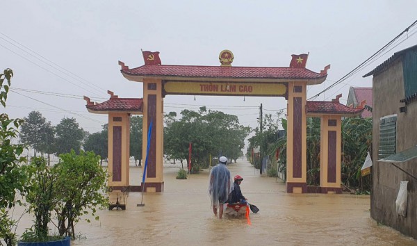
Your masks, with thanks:
M 84 142 L 83 149 L 85 151 L 93 151 L 100 156 L 100 165 L 103 160 L 108 157 L 108 126 L 103 125 L 103 129 L 98 133 L 89 134 Z

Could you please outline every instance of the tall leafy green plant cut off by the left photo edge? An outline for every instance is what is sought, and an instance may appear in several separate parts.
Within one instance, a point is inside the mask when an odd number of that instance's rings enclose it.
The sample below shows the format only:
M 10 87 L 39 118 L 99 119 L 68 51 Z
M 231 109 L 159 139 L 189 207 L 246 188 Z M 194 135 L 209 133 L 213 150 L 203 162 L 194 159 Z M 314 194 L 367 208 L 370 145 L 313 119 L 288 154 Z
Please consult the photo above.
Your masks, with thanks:
M 0 103 L 3 107 L 6 107 L 12 77 L 11 69 L 5 69 L 3 74 L 0 74 Z M 24 193 L 27 190 L 28 174 L 25 167 L 19 165 L 26 161 L 26 158 L 20 156 L 24 146 L 13 144 L 13 140 L 17 138 L 17 129 L 22 123 L 21 119 L 10 119 L 6 113 L 0 114 L 0 238 L 6 245 L 15 245 L 17 241 L 13 231 L 17 221 L 10 217 L 10 208 L 15 204 L 21 204 L 21 201 L 16 199 L 16 193 Z

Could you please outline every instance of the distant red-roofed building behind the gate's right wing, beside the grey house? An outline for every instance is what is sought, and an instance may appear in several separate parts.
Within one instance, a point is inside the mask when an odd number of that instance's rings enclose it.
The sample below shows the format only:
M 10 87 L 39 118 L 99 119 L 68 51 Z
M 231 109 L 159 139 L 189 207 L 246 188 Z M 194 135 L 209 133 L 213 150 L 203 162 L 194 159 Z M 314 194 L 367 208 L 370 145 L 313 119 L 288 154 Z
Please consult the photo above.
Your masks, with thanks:
M 361 118 L 372 117 L 373 108 L 373 92 L 372 87 L 351 87 L 347 96 L 347 104 L 351 108 L 357 108 L 362 102 L 365 110 L 361 113 Z

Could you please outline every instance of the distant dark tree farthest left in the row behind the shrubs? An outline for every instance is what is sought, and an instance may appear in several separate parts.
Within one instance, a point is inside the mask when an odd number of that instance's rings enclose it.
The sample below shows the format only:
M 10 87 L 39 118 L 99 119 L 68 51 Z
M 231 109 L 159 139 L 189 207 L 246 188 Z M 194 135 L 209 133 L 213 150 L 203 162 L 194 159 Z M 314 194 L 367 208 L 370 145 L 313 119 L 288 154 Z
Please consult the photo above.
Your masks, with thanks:
M 45 141 L 47 119 L 39 111 L 32 111 L 28 117 L 23 118 L 20 128 L 20 141 L 33 149 L 33 156 L 39 151 L 39 146 Z

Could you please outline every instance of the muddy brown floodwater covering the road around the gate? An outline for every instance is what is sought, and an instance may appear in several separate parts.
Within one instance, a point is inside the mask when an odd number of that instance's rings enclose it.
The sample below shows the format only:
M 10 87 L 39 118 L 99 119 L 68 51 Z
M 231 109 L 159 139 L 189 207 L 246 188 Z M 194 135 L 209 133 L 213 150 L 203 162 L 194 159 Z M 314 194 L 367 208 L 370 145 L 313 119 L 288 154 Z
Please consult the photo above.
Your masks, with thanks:
M 370 218 L 368 195 L 288 194 L 283 181 L 241 159 L 227 167 L 244 178 L 243 195 L 260 211 L 250 213 L 251 225 L 245 218 L 219 220 L 207 194 L 209 170 L 177 180 L 173 166 L 165 164 L 164 192 L 145 193 L 145 206 L 136 206 L 141 193 L 131 192 L 125 211 L 99 211 L 99 221 L 79 222 L 81 239 L 72 245 L 417 245 Z M 140 172 L 131 167 L 132 185 Z

